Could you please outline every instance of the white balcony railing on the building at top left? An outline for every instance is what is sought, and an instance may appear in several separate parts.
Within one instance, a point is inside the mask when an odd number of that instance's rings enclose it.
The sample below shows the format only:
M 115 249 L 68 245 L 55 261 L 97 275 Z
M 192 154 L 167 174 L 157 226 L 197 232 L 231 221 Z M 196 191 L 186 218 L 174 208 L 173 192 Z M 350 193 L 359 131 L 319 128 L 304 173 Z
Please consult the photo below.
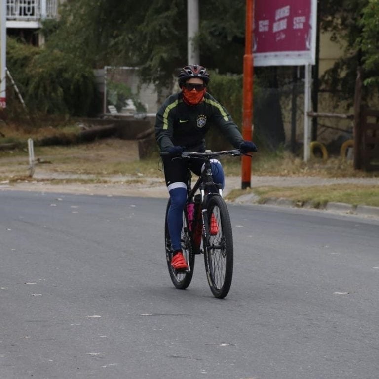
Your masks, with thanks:
M 38 21 L 58 16 L 58 0 L 6 0 L 6 19 Z

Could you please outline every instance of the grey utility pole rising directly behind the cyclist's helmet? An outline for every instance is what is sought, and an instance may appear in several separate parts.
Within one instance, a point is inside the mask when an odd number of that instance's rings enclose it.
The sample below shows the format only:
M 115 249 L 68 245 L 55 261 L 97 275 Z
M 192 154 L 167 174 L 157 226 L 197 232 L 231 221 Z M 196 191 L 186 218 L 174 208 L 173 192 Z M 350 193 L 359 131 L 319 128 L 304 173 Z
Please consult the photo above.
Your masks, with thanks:
M 194 38 L 199 32 L 199 0 L 187 0 L 187 38 L 189 65 L 200 64 L 199 47 Z

